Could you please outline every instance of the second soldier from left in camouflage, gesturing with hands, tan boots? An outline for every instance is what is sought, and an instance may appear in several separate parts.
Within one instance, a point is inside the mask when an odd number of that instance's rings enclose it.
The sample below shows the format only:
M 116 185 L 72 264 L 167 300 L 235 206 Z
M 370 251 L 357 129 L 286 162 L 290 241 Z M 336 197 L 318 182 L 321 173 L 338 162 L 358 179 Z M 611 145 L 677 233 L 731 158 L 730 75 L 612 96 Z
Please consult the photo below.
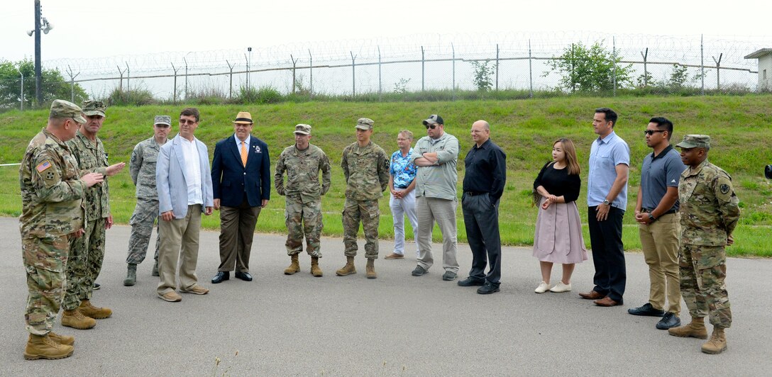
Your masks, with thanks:
M 67 142 L 69 150 L 78 162 L 81 173 L 100 173 L 107 177 L 124 169 L 126 163 L 107 166 L 107 153 L 97 132 L 102 128 L 106 106 L 100 101 L 83 103 L 86 124 L 80 127 L 72 140 Z M 105 230 L 113 226 L 110 214 L 110 200 L 107 197 L 107 179 L 100 185 L 86 190 L 83 205 L 86 217 L 83 220 L 83 237 L 70 240 L 67 262 L 67 290 L 62 306 L 62 325 L 72 328 L 93 328 L 93 318 L 107 318 L 112 315 L 108 308 L 91 305 L 91 291 L 94 280 L 99 276 L 104 259 Z

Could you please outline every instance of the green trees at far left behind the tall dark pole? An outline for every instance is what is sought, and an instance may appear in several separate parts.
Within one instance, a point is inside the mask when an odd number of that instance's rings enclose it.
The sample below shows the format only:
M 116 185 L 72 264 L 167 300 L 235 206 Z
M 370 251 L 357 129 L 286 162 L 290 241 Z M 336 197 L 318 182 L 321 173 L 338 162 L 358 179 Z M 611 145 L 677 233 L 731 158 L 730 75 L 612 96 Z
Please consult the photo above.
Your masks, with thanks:
M 19 71 L 22 71 L 24 75 L 24 106 L 29 107 L 35 103 L 35 63 L 31 60 L 15 63 L 2 61 L 0 62 L 0 108 L 19 106 L 22 84 Z M 57 69 L 43 69 L 41 71 L 40 90 L 44 103 L 54 99 L 70 99 L 69 82 L 66 82 Z M 75 84 L 74 92 L 76 103 L 88 98 L 86 91 L 78 84 Z

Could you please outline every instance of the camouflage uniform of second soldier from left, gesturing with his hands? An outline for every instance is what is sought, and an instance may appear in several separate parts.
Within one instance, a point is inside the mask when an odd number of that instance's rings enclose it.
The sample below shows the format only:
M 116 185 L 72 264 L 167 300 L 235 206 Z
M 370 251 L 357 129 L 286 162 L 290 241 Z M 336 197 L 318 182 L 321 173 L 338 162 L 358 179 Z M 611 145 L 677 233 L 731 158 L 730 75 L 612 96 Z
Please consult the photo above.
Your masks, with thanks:
M 80 130 L 73 140 L 67 141 L 69 150 L 78 162 L 80 173 L 107 173 L 107 153 L 99 137 L 96 143 L 88 140 Z M 81 300 L 90 300 L 94 280 L 102 270 L 104 259 L 105 224 L 110 216 L 110 200 L 107 197 L 107 177 L 101 184 L 86 190 L 83 204 L 86 217 L 83 221 L 82 237 L 69 243 L 67 263 L 67 291 L 62 306 L 64 310 L 75 310 Z

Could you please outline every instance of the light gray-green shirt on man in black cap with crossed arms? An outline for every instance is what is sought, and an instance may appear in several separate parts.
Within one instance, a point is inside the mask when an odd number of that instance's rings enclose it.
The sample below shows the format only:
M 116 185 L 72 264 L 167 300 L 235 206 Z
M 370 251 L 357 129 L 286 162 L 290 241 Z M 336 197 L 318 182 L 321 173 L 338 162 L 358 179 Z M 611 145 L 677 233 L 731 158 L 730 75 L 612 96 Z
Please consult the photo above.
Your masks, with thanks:
M 415 143 L 410 160 L 415 163 L 423 153 L 432 152 L 437 152 L 439 161 L 432 167 L 418 167 L 415 196 L 453 200 L 456 198 L 455 186 L 459 182 L 459 173 L 455 171 L 459 160 L 459 140 L 449 133 L 443 133 L 436 140 L 424 136 Z

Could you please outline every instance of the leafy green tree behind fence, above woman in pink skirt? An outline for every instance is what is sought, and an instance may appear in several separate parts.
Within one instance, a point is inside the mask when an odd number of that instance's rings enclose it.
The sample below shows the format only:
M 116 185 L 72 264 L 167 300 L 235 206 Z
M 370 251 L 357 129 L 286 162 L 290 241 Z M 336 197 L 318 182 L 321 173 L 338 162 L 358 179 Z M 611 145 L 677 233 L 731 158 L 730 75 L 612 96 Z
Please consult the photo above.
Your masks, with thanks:
M 632 64 L 620 64 L 621 59 L 605 49 L 602 42 L 589 47 L 581 42 L 567 46 L 562 55 L 547 62 L 550 71 L 544 76 L 560 72 L 560 86 L 571 92 L 609 91 L 614 88 L 615 79 L 618 88 L 631 86 Z

